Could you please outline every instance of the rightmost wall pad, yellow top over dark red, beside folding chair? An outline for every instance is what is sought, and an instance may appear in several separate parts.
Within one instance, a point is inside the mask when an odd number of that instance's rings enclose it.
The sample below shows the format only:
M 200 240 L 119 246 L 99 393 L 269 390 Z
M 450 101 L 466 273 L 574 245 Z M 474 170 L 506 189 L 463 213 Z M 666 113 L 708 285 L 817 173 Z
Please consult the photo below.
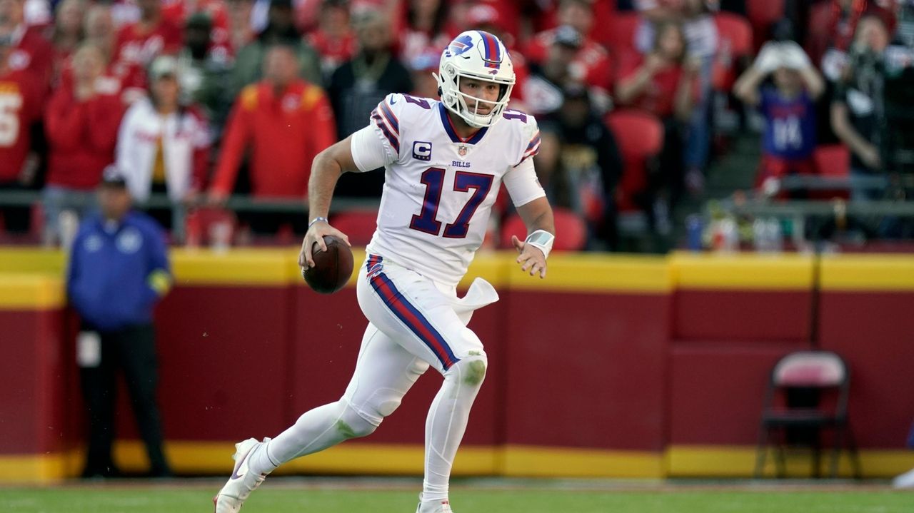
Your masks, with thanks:
M 850 365 L 857 444 L 896 448 L 914 422 L 914 257 L 822 259 L 822 349 Z

